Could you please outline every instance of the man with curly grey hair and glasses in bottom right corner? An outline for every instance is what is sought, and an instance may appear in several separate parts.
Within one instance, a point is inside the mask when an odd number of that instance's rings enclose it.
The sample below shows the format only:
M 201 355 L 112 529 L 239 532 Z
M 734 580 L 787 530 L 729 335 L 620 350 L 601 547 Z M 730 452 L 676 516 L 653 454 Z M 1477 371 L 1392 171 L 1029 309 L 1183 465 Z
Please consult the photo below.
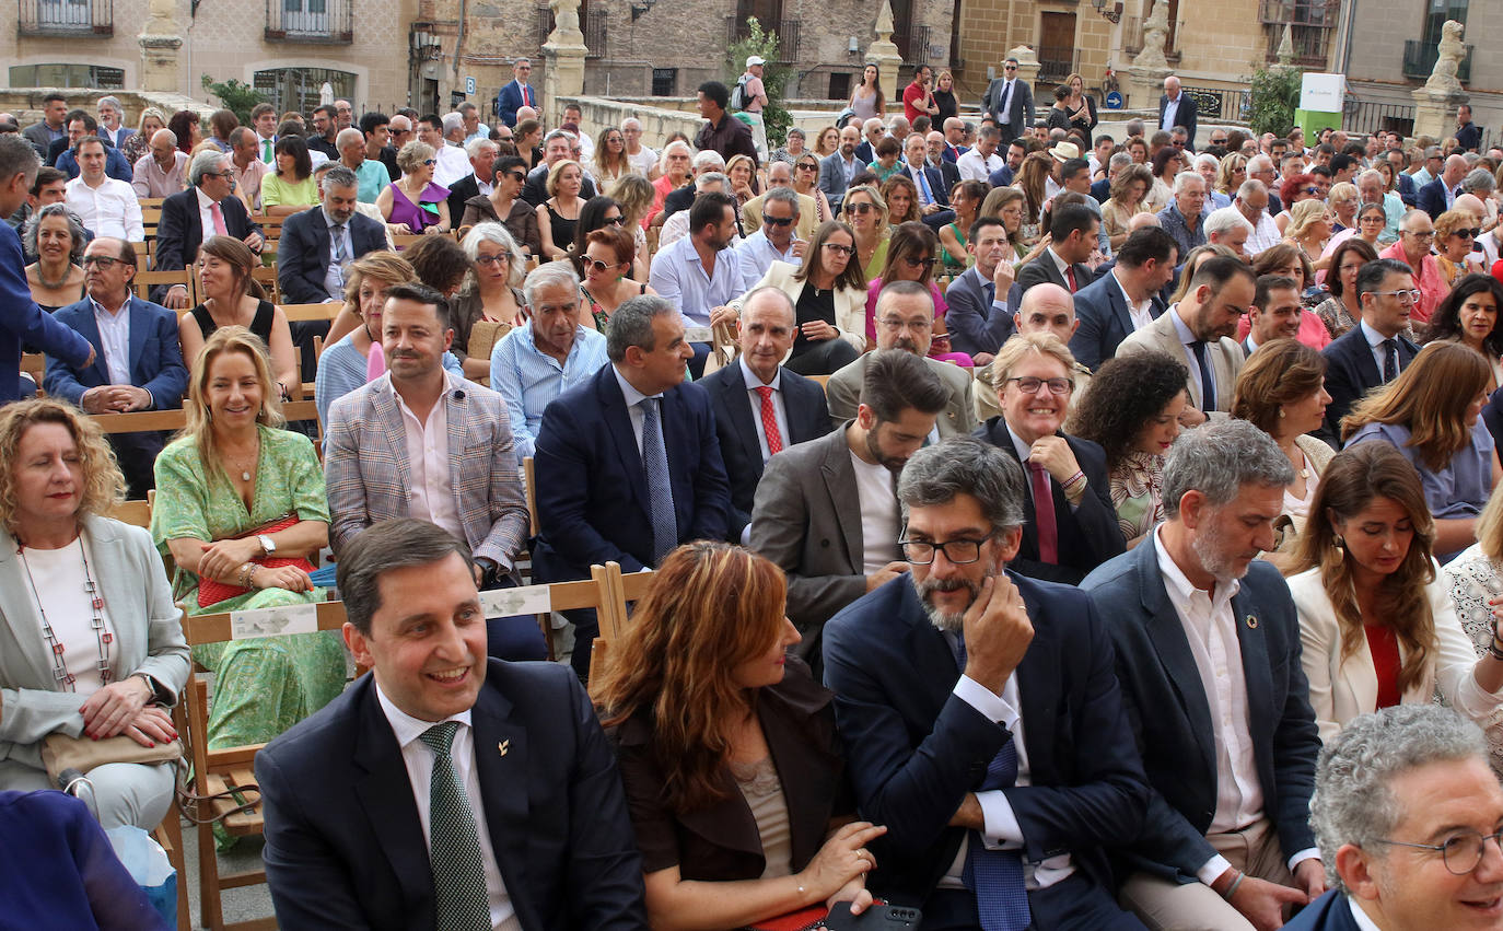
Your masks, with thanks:
M 1347 722 L 1321 752 L 1311 824 L 1335 889 L 1287 931 L 1498 926 L 1503 857 L 1486 838 L 1503 788 L 1482 731 L 1453 710 L 1401 704 Z

